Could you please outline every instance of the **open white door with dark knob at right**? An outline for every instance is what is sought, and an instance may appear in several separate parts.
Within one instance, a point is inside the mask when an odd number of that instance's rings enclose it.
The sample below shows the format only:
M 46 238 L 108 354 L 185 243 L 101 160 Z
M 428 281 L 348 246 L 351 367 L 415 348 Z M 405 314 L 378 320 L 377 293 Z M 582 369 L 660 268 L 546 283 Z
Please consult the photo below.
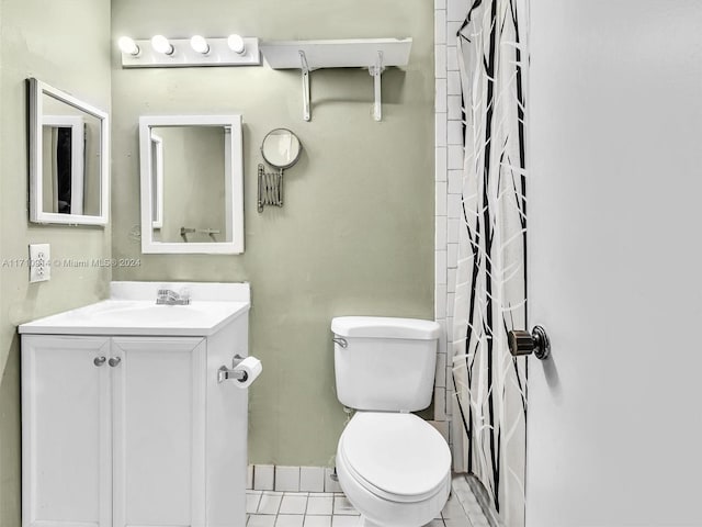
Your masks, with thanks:
M 531 2 L 526 526 L 702 525 L 702 2 Z

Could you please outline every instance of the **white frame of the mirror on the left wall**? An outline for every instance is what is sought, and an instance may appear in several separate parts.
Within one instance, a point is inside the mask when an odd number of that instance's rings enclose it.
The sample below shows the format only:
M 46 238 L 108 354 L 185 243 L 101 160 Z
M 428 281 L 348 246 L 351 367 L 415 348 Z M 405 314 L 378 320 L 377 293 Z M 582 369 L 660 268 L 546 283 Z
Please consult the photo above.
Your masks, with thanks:
M 65 91 L 53 88 L 46 82 L 30 78 L 30 221 L 39 224 L 63 225 L 106 225 L 110 217 L 110 117 L 109 115 Z M 61 214 L 44 212 L 43 178 L 43 116 L 42 96 L 73 106 L 100 121 L 100 214 Z

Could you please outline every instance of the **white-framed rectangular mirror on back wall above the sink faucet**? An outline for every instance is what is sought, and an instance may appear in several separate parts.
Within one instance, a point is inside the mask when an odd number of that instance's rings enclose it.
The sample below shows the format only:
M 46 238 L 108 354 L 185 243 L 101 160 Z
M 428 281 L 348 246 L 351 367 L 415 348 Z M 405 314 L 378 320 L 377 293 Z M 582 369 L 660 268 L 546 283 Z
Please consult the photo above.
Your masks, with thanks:
M 141 251 L 244 253 L 240 115 L 139 117 Z

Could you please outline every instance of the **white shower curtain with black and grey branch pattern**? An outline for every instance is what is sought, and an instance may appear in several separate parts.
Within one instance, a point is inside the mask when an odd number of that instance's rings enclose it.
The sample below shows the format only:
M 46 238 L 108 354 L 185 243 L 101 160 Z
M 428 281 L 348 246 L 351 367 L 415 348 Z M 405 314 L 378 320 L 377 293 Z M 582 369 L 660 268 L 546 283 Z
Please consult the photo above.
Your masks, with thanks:
M 473 0 L 457 34 L 465 117 L 453 324 L 454 469 L 477 476 L 508 527 L 524 525 L 526 0 Z

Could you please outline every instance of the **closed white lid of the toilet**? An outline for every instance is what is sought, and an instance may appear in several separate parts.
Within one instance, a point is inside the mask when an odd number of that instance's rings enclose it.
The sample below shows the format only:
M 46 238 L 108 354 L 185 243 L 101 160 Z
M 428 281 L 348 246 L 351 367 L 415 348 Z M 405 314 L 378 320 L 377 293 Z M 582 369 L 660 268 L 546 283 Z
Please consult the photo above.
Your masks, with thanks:
M 422 500 L 451 471 L 446 441 L 414 414 L 356 413 L 341 435 L 339 453 L 364 486 L 398 497 Z

